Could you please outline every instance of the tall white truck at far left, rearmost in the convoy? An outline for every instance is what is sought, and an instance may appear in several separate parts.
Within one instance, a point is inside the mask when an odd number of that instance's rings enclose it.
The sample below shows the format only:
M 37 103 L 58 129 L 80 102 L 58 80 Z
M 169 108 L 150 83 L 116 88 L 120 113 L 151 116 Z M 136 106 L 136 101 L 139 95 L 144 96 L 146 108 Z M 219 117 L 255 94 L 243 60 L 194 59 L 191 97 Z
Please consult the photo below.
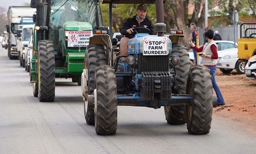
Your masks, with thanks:
M 19 54 L 17 51 L 17 32 L 19 25 L 34 24 L 33 14 L 36 12 L 35 8 L 22 7 L 22 6 L 10 6 L 7 11 L 7 48 L 9 59 L 18 58 Z M 32 20 L 22 20 L 23 18 L 30 18 Z M 32 23 L 31 23 L 32 21 Z

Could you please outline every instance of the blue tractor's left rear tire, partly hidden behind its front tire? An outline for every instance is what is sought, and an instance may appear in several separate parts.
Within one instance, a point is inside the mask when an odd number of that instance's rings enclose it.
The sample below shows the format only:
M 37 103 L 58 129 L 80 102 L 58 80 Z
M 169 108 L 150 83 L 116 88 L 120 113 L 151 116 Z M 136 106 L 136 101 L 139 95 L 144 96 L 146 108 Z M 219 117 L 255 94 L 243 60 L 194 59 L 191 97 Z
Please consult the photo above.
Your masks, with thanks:
M 104 46 L 100 44 L 90 44 L 86 46 L 87 50 L 85 53 L 85 64 L 84 69 L 88 69 L 88 92 L 87 94 L 92 95 L 95 90 L 95 70 L 100 65 L 107 64 L 106 60 L 106 51 Z M 84 88 L 86 89 L 86 88 Z M 88 98 L 87 96 L 85 96 Z M 87 101 L 84 102 L 84 114 L 85 114 L 85 121 L 89 125 L 95 124 L 95 117 L 94 117 L 94 108 L 88 107 Z

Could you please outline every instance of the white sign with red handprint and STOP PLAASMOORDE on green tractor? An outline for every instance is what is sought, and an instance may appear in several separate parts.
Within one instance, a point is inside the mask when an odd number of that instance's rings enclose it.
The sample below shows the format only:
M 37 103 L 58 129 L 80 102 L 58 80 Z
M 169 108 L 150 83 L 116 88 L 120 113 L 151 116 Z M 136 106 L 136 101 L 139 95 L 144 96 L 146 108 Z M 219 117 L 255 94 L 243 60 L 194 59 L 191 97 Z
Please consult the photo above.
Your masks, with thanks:
M 86 47 L 91 35 L 92 30 L 68 31 L 68 47 Z

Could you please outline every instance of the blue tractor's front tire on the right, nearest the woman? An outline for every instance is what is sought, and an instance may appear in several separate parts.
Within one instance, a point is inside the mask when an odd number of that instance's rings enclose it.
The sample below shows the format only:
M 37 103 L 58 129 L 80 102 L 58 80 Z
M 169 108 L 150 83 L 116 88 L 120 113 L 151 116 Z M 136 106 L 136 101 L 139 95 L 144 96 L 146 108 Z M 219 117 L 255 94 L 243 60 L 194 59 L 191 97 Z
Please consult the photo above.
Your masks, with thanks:
M 187 94 L 193 103 L 186 108 L 187 130 L 190 134 L 207 134 L 211 129 L 213 90 L 210 70 L 202 65 L 191 67 L 187 78 Z

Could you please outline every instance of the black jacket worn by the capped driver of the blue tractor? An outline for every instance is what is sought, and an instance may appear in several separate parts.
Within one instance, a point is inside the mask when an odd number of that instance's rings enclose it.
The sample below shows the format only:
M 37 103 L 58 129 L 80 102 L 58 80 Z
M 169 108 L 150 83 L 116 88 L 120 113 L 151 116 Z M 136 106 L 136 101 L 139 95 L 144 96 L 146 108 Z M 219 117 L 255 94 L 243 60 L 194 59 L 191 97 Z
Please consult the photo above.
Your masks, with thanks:
M 130 28 L 137 28 L 137 27 L 148 28 L 150 30 L 151 34 L 154 34 L 152 22 L 149 19 L 145 18 L 142 22 L 139 23 L 136 19 L 136 15 L 133 16 L 133 18 L 128 18 L 126 20 L 126 22 L 123 23 L 123 27 L 121 28 L 120 33 L 130 39 L 132 37 L 130 34 L 126 33 L 126 30 L 128 30 Z

